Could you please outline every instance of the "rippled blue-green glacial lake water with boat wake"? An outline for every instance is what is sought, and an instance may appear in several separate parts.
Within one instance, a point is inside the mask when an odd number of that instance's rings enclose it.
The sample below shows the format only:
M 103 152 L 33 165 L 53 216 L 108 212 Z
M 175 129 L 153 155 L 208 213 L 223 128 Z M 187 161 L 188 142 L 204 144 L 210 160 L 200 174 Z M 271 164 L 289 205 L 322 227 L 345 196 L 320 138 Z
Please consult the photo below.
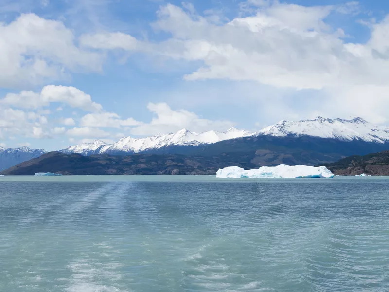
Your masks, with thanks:
M 389 178 L 1 177 L 1 292 L 389 291 Z

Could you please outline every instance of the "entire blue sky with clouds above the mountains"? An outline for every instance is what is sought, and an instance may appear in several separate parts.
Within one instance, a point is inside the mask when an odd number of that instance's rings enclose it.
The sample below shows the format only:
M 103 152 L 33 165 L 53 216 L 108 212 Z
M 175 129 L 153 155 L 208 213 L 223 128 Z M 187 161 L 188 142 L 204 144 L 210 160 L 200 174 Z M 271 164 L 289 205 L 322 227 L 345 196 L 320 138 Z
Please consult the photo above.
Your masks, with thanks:
M 0 146 L 389 124 L 384 0 L 0 0 Z

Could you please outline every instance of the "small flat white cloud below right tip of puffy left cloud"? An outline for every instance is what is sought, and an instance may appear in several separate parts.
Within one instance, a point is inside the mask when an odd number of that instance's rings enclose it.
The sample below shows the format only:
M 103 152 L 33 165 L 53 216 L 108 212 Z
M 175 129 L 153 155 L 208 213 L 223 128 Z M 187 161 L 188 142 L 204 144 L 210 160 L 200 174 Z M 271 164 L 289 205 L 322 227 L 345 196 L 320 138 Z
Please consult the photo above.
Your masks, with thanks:
M 80 125 L 82 127 L 104 127 L 104 128 L 120 128 L 122 126 L 137 126 L 140 122 L 133 118 L 125 120 L 120 119 L 120 116 L 114 112 L 88 113 L 81 118 Z

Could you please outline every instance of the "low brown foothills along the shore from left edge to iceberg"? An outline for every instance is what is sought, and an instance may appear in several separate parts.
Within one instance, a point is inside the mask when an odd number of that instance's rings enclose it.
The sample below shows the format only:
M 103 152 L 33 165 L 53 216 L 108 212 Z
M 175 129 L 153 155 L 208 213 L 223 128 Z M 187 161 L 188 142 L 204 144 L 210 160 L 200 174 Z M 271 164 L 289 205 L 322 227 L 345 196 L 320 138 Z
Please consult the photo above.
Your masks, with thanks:
M 161 175 L 161 174 L 216 174 L 221 167 L 238 165 L 253 168 L 255 165 L 244 156 L 220 157 L 185 156 L 173 154 L 134 154 L 110 156 L 64 154 L 49 152 L 39 158 L 15 165 L 3 175 L 34 175 L 36 172 L 52 172 L 66 175 Z

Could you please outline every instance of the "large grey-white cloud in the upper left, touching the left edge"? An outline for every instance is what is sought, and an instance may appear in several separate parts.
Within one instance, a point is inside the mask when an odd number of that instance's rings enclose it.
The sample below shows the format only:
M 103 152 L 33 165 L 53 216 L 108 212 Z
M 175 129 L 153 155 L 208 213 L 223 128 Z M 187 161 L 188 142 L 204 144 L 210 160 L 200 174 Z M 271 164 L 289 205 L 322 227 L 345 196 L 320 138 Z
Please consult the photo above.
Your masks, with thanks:
M 78 48 L 60 21 L 30 13 L 0 26 L 0 87 L 39 84 L 68 71 L 100 71 L 102 61 L 101 55 Z

